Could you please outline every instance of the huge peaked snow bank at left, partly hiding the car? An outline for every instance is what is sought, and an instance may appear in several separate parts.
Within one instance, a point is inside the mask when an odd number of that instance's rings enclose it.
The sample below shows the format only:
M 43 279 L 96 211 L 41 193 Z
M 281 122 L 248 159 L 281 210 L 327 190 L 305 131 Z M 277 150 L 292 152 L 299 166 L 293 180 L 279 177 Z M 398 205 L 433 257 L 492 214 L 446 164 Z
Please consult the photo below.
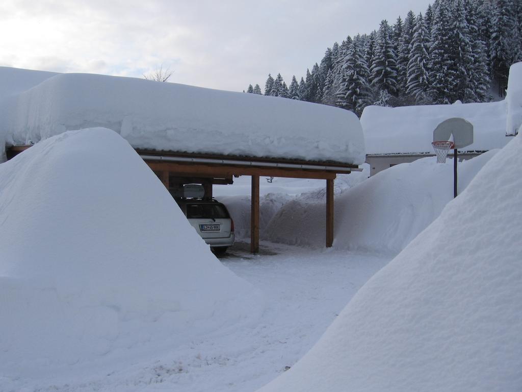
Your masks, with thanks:
M 111 130 L 34 145 L 0 165 L 0 187 L 2 376 L 148 358 L 137 351 L 158 355 L 258 309 Z

